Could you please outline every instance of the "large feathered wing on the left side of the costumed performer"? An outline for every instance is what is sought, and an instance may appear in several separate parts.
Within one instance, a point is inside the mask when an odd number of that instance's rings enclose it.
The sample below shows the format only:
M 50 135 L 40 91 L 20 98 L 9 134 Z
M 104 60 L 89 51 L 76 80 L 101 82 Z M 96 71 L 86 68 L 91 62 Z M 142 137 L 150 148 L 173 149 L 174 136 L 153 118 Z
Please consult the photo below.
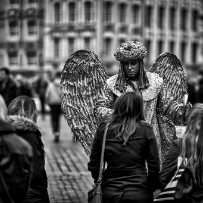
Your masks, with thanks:
M 95 100 L 102 94 L 107 78 L 97 55 L 87 50 L 72 54 L 62 70 L 62 111 L 87 155 L 90 154 L 98 125 L 94 114 Z

